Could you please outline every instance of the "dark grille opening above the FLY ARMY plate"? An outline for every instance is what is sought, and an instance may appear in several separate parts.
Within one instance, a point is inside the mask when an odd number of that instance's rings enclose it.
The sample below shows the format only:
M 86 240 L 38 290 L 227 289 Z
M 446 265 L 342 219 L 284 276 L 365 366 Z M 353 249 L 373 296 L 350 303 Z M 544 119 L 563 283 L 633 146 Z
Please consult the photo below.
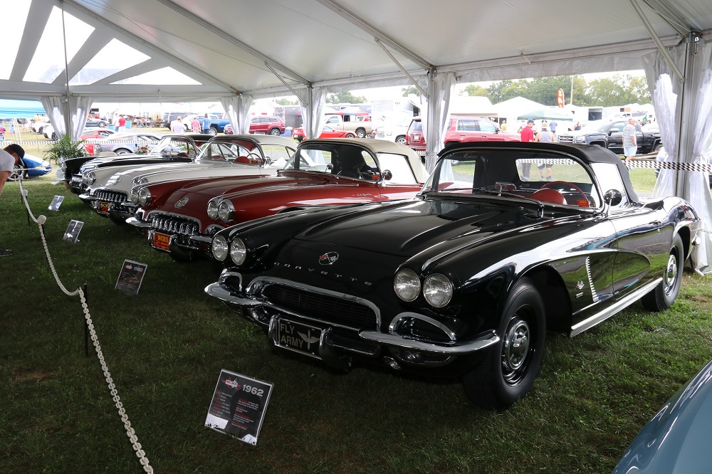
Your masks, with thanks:
M 356 330 L 377 327 L 376 313 L 355 301 L 276 283 L 266 285 L 261 293 L 271 304 L 313 320 Z

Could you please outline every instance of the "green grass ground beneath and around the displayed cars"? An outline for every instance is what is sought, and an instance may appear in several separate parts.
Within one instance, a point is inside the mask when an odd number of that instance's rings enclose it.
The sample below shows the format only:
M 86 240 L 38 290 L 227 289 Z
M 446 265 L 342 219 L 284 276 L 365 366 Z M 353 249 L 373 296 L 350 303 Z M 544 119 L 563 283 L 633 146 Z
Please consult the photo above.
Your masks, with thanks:
M 652 189 L 645 172 L 634 170 L 636 186 Z M 532 393 L 503 413 L 469 404 L 456 380 L 333 372 L 275 352 L 206 296 L 213 264 L 153 251 L 52 181 L 23 186 L 47 216 L 63 284 L 88 284 L 108 368 L 158 473 L 609 473 L 712 357 L 712 280 L 687 272 L 664 313 L 637 304 L 578 337 L 549 335 Z M 65 200 L 48 211 L 55 195 Z M 98 359 L 84 355 L 78 297 L 56 285 L 18 184 L 0 210 L 0 246 L 14 251 L 0 259 L 0 472 L 142 472 Z M 84 222 L 78 243 L 62 240 L 71 219 Z M 113 289 L 125 259 L 148 265 L 135 296 Z M 274 384 L 257 446 L 203 426 L 220 369 Z

